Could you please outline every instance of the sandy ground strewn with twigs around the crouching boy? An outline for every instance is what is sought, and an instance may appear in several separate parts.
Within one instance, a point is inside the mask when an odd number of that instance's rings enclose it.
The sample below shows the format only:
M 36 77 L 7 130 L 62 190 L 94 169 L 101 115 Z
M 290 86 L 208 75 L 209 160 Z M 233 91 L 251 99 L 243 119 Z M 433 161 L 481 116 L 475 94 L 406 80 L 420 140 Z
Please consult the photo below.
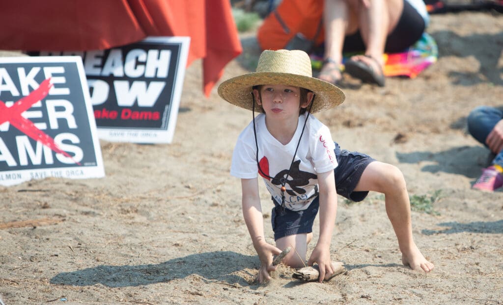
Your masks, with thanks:
M 0 229 L 5 304 L 503 304 L 503 192 L 470 189 L 488 150 L 465 122 L 475 106 L 503 101 L 502 29 L 503 15 L 434 15 L 437 63 L 384 88 L 353 82 L 342 106 L 317 115 L 343 148 L 398 166 L 414 198 L 440 194 L 433 213 L 412 212 L 415 241 L 436 265 L 430 274 L 401 264 L 383 196 L 370 193 L 359 204 L 339 197 L 331 255 L 344 274 L 302 283 L 281 267 L 269 284 L 255 282 L 259 259 L 229 175 L 251 113 L 216 88 L 205 98 L 195 62 L 172 144 L 102 141 L 105 178 L 0 187 L 1 223 L 45 220 Z M 257 60 L 253 34 L 243 46 L 222 80 Z

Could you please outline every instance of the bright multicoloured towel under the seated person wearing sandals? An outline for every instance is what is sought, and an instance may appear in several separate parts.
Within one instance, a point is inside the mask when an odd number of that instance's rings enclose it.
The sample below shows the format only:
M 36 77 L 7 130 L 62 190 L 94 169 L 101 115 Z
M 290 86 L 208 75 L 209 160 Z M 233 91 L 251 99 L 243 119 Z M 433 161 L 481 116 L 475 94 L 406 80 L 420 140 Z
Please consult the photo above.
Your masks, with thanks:
M 355 53 L 344 54 L 343 64 Z M 319 70 L 323 65 L 320 55 L 311 54 L 313 69 Z M 386 53 L 384 57 L 385 76 L 416 77 L 438 59 L 438 46 L 435 39 L 428 33 L 423 33 L 420 40 L 400 53 Z

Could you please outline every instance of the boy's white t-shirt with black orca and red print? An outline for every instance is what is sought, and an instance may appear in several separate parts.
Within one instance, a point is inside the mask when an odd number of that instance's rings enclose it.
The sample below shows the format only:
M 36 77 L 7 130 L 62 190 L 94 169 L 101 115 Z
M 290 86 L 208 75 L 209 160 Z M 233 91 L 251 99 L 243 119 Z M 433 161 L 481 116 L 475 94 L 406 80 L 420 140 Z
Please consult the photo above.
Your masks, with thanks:
M 307 113 L 299 117 L 297 130 L 287 145 L 274 138 L 266 127 L 266 116 L 255 118 L 257 144 L 259 147 L 260 174 L 273 198 L 281 204 L 281 182 L 285 177 L 285 207 L 293 211 L 302 211 L 309 207 L 318 195 L 317 173 L 324 173 L 337 167 L 333 152 L 335 145 L 330 131 L 318 119 L 309 115 L 299 148 L 292 164 L 295 148 L 299 142 Z M 253 121 L 241 132 L 237 139 L 230 174 L 243 179 L 258 177 L 257 146 L 255 144 Z M 267 177 L 272 177 L 273 179 Z

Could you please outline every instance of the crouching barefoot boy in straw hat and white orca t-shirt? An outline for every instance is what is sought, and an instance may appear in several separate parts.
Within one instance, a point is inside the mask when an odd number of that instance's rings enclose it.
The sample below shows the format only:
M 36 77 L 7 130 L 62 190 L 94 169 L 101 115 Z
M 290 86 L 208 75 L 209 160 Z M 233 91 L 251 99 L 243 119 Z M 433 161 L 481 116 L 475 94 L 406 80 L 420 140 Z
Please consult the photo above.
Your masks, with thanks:
M 255 73 L 224 81 L 218 94 L 253 111 L 253 122 L 239 135 L 234 148 L 231 174 L 241 178 L 243 217 L 261 261 L 261 283 L 275 270 L 273 255 L 288 246 L 296 251 L 290 251 L 285 263 L 303 267 L 318 209 L 319 238 L 308 264 L 318 264 L 320 282 L 328 279 L 333 273 L 330 240 L 337 194 L 361 201 L 370 190 L 385 194 L 403 264 L 414 270 L 433 270 L 412 239 L 409 197 L 400 170 L 367 155 L 341 150 L 328 128 L 311 115 L 343 103 L 345 95 L 337 86 L 312 77 L 305 52 L 266 50 Z M 255 117 L 255 111 L 261 114 Z M 275 205 L 271 222 L 276 247 L 264 237 L 259 175 Z

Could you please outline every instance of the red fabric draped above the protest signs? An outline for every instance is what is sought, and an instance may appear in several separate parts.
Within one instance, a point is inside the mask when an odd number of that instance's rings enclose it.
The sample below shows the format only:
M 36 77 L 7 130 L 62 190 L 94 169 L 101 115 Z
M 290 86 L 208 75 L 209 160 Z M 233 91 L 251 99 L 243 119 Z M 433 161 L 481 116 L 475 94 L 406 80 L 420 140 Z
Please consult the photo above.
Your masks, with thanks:
M 2 1 L 0 25 L 3 50 L 87 51 L 190 36 L 187 66 L 203 59 L 206 96 L 242 52 L 229 0 Z

